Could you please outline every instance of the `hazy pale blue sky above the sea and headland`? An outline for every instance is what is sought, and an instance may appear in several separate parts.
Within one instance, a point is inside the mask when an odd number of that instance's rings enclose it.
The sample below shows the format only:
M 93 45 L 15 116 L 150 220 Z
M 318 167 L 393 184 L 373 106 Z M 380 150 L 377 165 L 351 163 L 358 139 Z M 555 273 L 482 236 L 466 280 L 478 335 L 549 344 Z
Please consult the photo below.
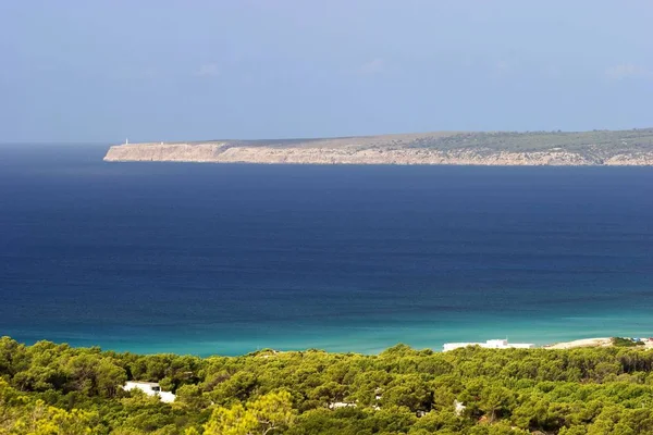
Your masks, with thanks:
M 653 126 L 653 2 L 0 1 L 0 142 Z

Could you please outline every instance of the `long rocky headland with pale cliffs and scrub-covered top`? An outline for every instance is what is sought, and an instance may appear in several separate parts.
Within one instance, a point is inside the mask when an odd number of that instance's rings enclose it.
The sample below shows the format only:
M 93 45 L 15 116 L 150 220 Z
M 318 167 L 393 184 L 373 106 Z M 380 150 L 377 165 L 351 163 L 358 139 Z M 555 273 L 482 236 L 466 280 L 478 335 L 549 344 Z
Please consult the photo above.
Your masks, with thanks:
M 112 146 L 104 161 L 644 166 L 653 165 L 653 128 L 124 144 Z

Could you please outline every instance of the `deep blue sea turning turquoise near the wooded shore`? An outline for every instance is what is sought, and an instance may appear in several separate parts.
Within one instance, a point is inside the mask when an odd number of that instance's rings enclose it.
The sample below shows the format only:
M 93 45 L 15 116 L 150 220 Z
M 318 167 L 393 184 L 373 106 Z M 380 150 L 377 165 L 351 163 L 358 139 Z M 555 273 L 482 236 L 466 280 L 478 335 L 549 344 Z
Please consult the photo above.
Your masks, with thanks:
M 0 335 L 137 352 L 653 335 L 653 169 L 0 146 Z

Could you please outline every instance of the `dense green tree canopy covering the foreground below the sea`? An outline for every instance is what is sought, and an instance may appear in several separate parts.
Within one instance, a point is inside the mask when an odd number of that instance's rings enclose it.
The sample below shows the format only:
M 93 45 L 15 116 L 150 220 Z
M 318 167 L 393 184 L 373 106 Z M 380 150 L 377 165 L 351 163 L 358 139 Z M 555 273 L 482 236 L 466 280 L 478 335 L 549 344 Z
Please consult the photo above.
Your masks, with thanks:
M 652 370 L 634 347 L 198 358 L 3 337 L 0 433 L 653 434 Z M 176 401 L 126 393 L 126 380 Z

